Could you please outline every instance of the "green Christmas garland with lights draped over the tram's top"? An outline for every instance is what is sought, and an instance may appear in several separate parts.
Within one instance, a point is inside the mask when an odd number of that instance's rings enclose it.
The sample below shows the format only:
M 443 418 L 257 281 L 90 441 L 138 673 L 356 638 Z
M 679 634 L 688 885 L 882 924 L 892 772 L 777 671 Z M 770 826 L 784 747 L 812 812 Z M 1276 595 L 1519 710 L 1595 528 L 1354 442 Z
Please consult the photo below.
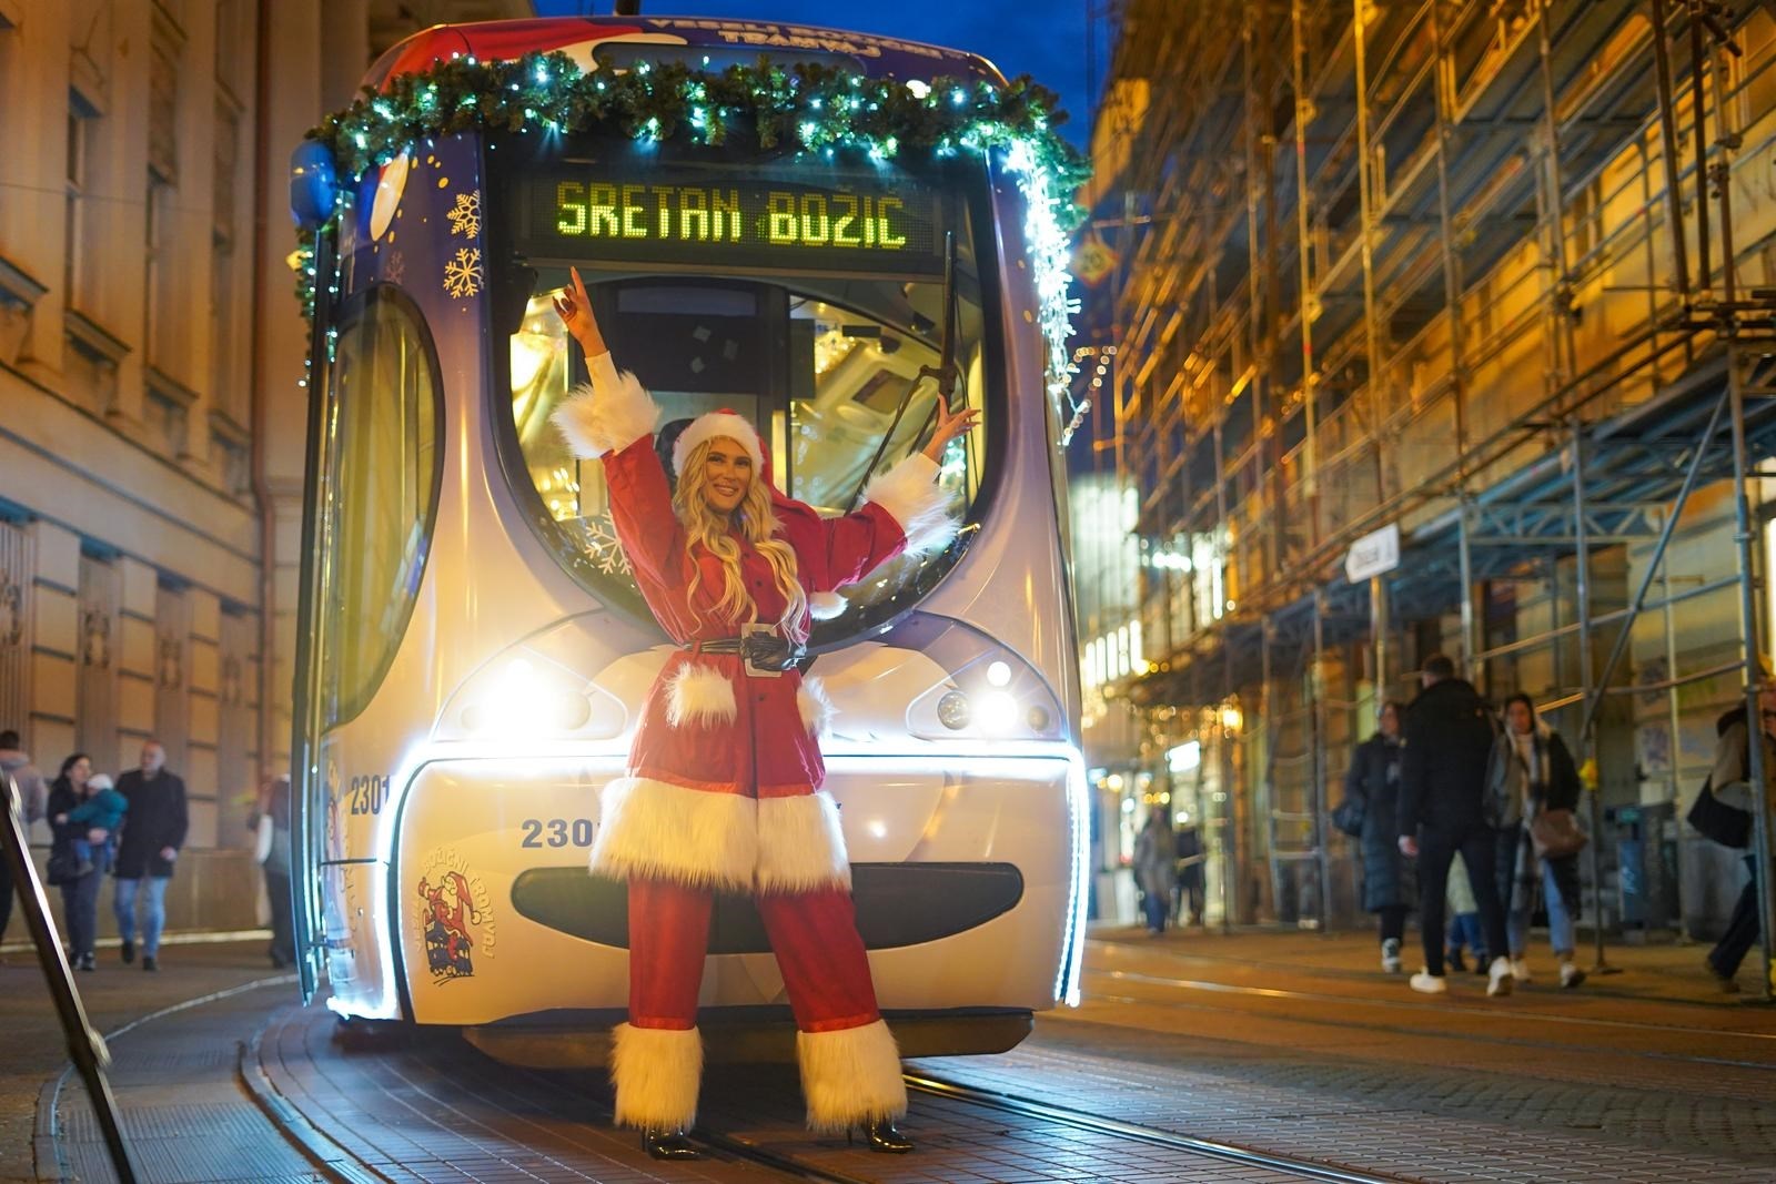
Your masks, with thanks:
M 1073 193 L 1089 165 L 1060 138 L 1066 114 L 1028 75 L 1007 85 L 936 78 L 863 78 L 819 62 L 732 66 L 721 73 L 682 62 L 639 62 L 627 73 L 584 73 L 565 53 L 526 53 L 481 62 L 458 57 L 366 89 L 307 138 L 323 144 L 343 178 L 359 178 L 412 146 L 462 131 L 579 133 L 614 128 L 638 140 L 687 138 L 721 146 L 749 135 L 762 151 L 794 147 L 826 154 L 954 156 L 1000 153 L 1030 206 L 1043 328 L 1050 339 L 1050 391 L 1060 398 L 1071 366 L 1066 337 L 1073 305 L 1067 233 L 1082 211 Z M 348 186 L 343 192 L 350 192 Z M 314 268 L 304 241 L 298 295 L 313 311 Z

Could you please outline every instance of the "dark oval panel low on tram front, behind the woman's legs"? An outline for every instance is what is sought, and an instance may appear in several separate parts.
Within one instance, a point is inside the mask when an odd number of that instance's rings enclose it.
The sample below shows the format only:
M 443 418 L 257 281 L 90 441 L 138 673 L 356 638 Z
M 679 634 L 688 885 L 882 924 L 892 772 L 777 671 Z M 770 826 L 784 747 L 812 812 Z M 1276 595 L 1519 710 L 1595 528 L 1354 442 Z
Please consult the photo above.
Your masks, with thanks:
M 854 863 L 851 898 L 867 950 L 954 937 L 1023 900 L 1011 863 Z M 511 884 L 511 907 L 549 928 L 600 946 L 629 948 L 629 886 L 586 868 L 531 868 Z M 769 953 L 771 941 L 749 896 L 716 895 L 710 953 Z

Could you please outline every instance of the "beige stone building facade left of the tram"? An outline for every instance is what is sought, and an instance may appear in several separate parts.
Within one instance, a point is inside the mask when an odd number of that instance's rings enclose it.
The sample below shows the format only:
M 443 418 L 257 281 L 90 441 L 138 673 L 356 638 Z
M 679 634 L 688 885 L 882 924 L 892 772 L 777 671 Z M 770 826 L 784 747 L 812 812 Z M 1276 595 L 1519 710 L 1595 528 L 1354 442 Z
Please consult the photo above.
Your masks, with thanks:
M 52 776 L 165 744 L 197 864 L 176 927 L 234 920 L 231 849 L 288 765 L 307 422 L 289 151 L 396 39 L 529 14 L 0 0 L 0 728 Z

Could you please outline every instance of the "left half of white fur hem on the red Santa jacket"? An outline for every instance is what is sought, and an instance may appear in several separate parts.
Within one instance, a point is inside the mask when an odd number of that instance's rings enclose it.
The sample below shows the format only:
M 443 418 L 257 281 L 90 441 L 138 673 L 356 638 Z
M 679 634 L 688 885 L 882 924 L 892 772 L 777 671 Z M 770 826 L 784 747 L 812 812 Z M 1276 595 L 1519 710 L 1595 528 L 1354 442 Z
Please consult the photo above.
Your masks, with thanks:
M 757 866 L 758 802 L 744 793 L 616 777 L 599 795 L 599 875 L 749 893 Z

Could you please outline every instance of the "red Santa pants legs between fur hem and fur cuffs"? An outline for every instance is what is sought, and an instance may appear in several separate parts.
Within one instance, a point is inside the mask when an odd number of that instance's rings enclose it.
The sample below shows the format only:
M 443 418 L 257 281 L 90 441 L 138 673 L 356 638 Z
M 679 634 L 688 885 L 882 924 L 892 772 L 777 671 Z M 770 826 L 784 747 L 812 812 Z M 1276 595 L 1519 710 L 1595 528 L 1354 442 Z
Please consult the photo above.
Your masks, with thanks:
M 801 1031 L 876 1022 L 876 985 L 845 888 L 755 896 Z M 629 880 L 629 1022 L 696 1026 L 714 893 L 670 880 Z

